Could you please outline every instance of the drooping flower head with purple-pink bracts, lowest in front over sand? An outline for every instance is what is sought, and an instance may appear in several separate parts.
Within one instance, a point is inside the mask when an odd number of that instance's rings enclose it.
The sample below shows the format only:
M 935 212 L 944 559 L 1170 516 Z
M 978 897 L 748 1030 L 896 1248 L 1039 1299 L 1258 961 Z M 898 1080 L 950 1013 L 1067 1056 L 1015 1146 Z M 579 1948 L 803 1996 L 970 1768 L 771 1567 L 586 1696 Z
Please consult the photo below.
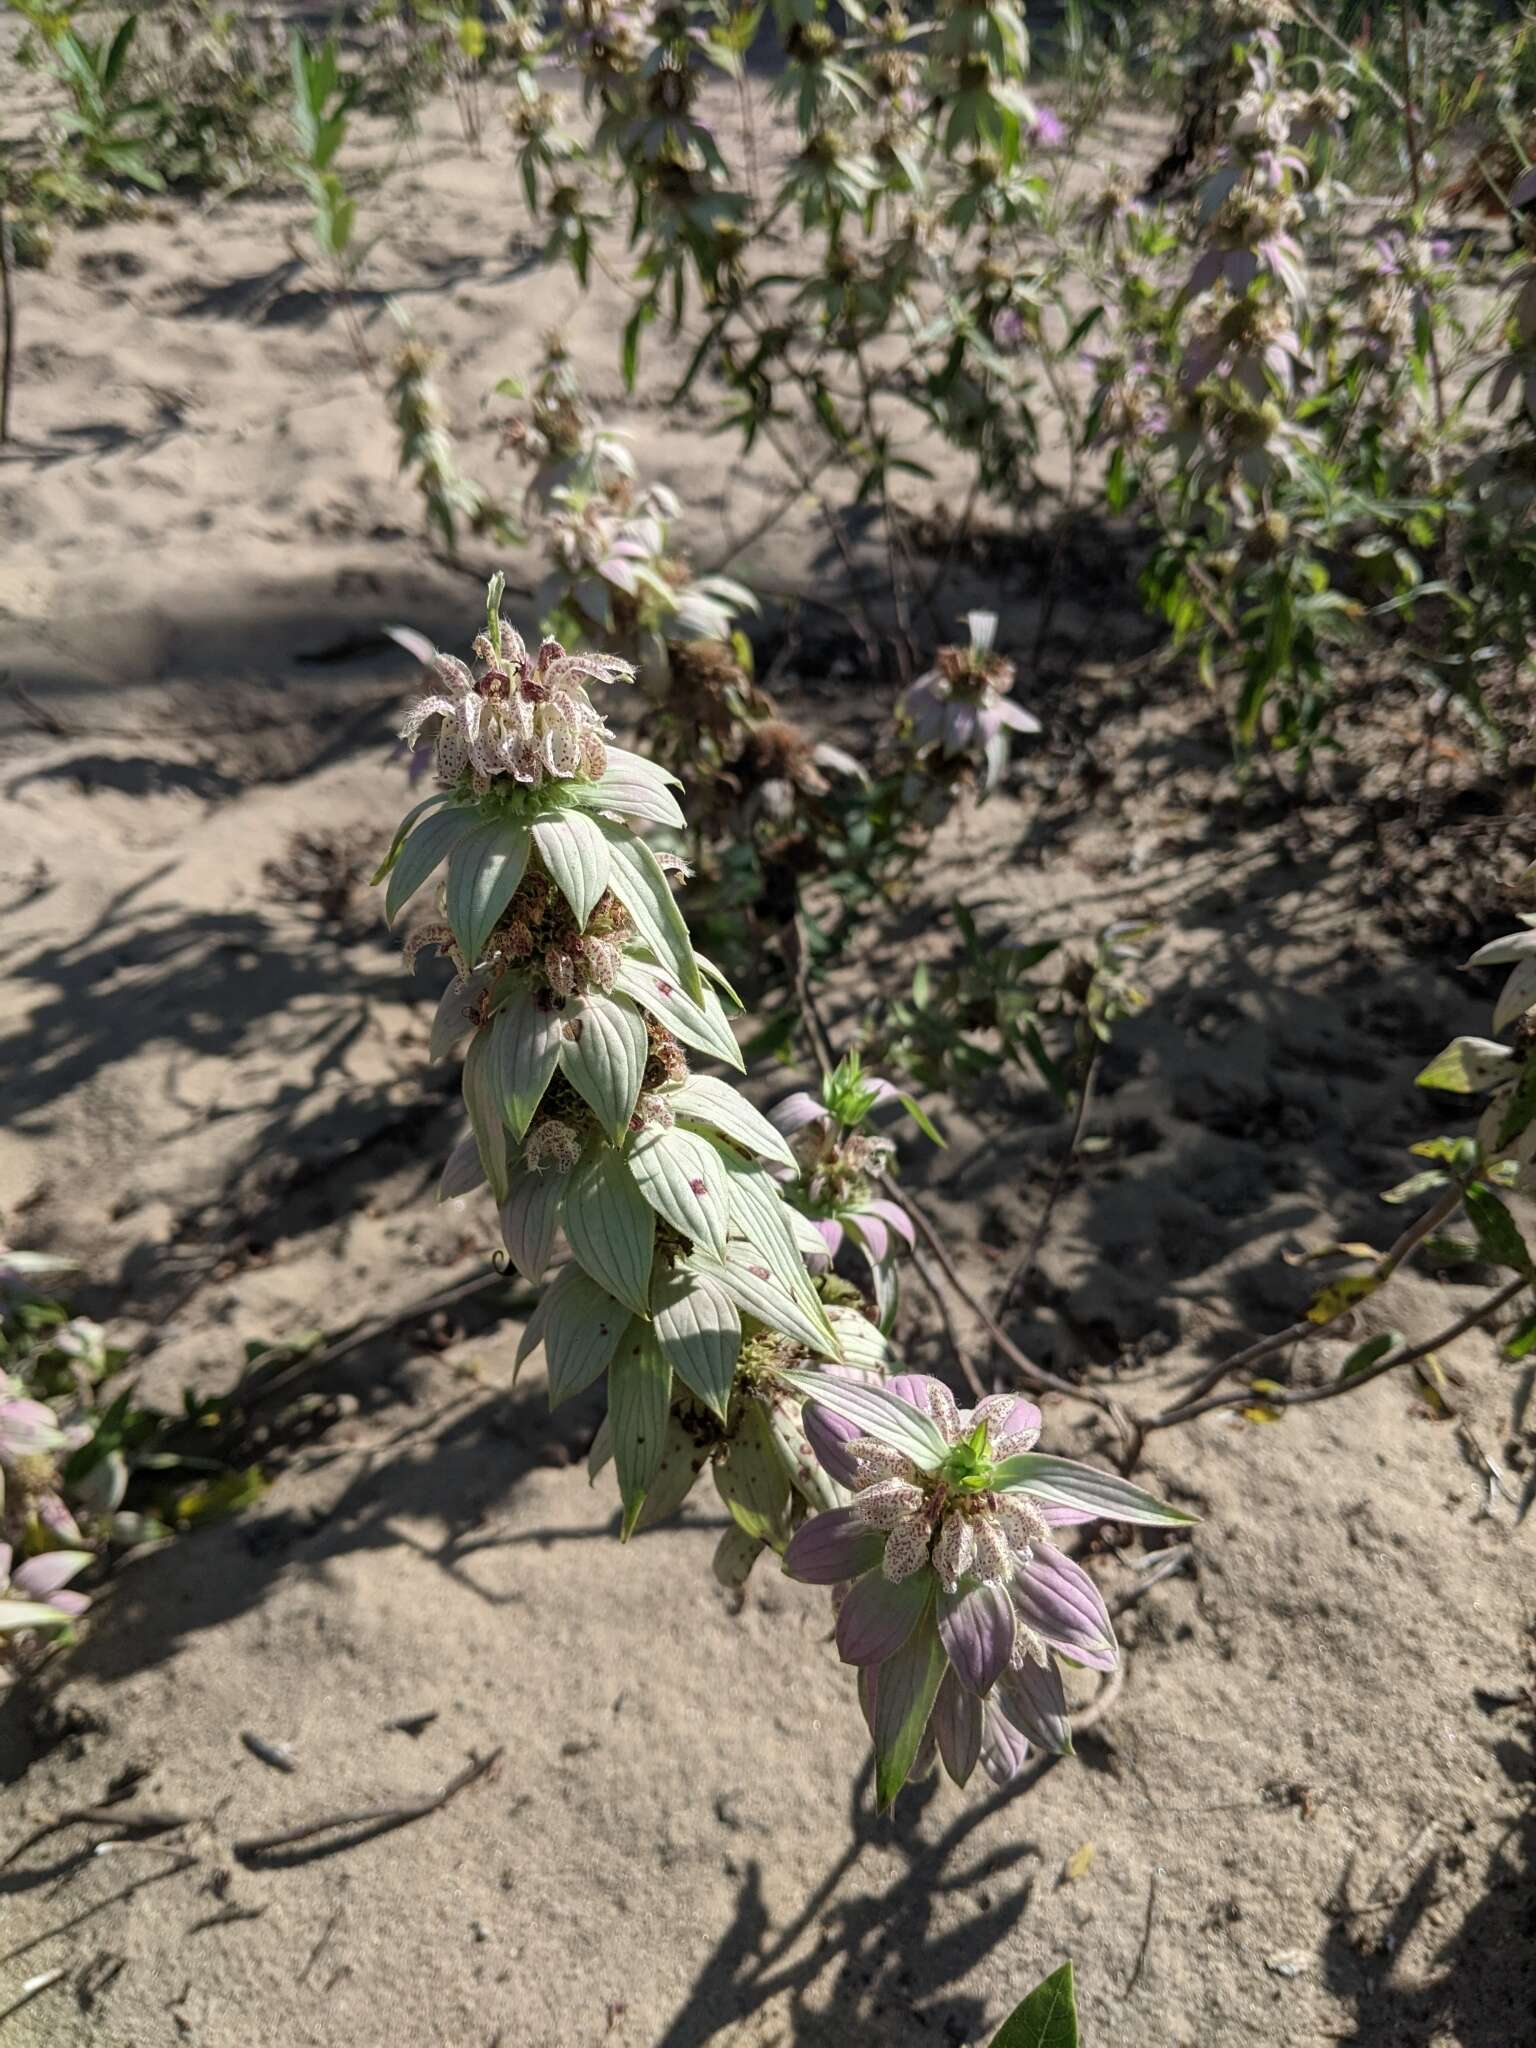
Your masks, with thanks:
M 803 1524 L 784 1569 L 834 1587 L 879 1806 L 934 1755 L 956 1784 L 977 1763 L 1008 1784 L 1030 1745 L 1069 1751 L 1057 1659 L 1108 1671 L 1118 1649 L 1098 1587 L 1055 1548 L 1053 1528 L 1192 1518 L 1112 1473 L 1036 1452 L 1040 1411 L 1014 1395 L 963 1411 L 915 1372 L 883 1386 L 827 1372 L 791 1382 L 850 1501 Z

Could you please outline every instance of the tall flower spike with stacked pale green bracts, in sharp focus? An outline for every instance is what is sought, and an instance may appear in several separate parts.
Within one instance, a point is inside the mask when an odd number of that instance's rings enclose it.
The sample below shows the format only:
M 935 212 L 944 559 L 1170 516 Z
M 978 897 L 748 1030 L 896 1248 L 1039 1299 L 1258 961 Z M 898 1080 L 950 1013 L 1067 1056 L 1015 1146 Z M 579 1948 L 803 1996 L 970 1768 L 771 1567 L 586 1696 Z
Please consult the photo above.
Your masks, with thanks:
M 821 1239 L 770 1171 L 795 1155 L 727 1081 L 692 1071 L 700 1055 L 741 1067 L 735 997 L 688 940 L 682 862 L 639 829 L 682 829 L 676 776 L 616 748 L 588 696 L 633 670 L 555 641 L 530 651 L 500 598 L 498 578 L 473 666 L 397 633 L 430 676 L 403 737 L 430 737 L 444 786 L 406 817 L 379 879 L 393 922 L 444 870 L 440 915 L 408 944 L 455 967 L 432 1055 L 469 1036 L 471 1128 L 442 1196 L 489 1186 L 532 1284 L 557 1239 L 569 1247 L 518 1362 L 543 1346 L 551 1403 L 606 1372 L 594 1462 L 612 1456 L 629 1534 L 653 1491 L 651 1516 L 707 1460 L 717 1481 L 731 1460 L 748 1470 L 739 1493 L 762 1491 L 768 1452 L 784 1473 L 809 1464 L 774 1450 L 774 1362 L 838 1360 L 842 1341 L 805 1270 Z M 748 1522 L 788 1540 L 788 1513 Z

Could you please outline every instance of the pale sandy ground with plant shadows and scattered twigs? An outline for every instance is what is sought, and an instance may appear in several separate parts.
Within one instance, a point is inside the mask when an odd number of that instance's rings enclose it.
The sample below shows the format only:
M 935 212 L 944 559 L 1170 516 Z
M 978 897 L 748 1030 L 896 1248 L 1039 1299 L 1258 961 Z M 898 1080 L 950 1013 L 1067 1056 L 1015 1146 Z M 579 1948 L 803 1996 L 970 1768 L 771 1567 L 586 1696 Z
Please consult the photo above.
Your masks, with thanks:
M 410 305 L 444 346 L 465 465 L 512 485 L 479 395 L 575 313 L 594 389 L 682 492 L 700 555 L 743 532 L 772 459 L 723 463 L 623 397 L 623 307 L 528 264 L 512 190 L 504 156 L 469 158 L 436 111 L 369 201 L 371 336 L 383 293 Z M 369 635 L 410 618 L 457 645 L 475 592 L 418 541 L 381 399 L 291 264 L 295 217 L 164 205 L 23 279 L 0 465 L 0 670 L 25 692 L 0 733 L 0 1212 L 84 1257 L 86 1300 L 162 1397 L 229 1384 L 250 1337 L 399 1323 L 328 1376 L 340 1419 L 260 1509 L 123 1573 L 47 1714 L 12 1696 L 6 1839 L 141 1769 L 137 1800 L 186 1815 L 172 1839 L 195 1862 L 82 1862 L 61 1835 L 0 1870 L 0 2009 L 68 1970 L 8 2038 L 981 2044 L 1073 1956 L 1092 2048 L 1530 2048 L 1536 1747 L 1497 1700 L 1534 1671 L 1536 1520 L 1483 1511 L 1456 1425 L 1411 1386 L 1155 1440 L 1147 1481 L 1202 1516 L 1196 1565 L 1122 1622 L 1124 1692 L 1077 1759 L 1008 1796 L 920 1788 L 877 1823 L 821 1595 L 764 1571 L 731 1614 L 702 1497 L 621 1550 L 608 1493 L 567 1468 L 592 1415 L 551 1421 L 537 1370 L 510 1386 L 514 1305 L 418 1307 L 483 1270 L 492 1227 L 430 1198 L 455 1137 L 455 1077 L 426 1063 L 436 985 L 408 983 L 365 887 L 317 901 L 293 840 L 324 838 L 348 874 L 387 838 L 410 674 Z M 741 569 L 836 598 L 809 512 Z M 1001 551 L 946 596 L 985 590 L 1028 647 L 1034 584 L 1028 551 Z M 1206 711 L 1114 666 L 1145 631 L 1124 573 L 1114 616 L 1106 588 L 1102 565 L 1073 580 L 1065 653 L 1026 682 L 1047 745 L 944 831 L 831 1008 L 856 1020 L 870 975 L 899 987 L 940 952 L 956 891 L 1016 936 L 1161 920 L 1155 1001 L 1104 1065 L 1106 1143 L 1016 1319 L 1042 1362 L 1153 1407 L 1305 1305 L 1303 1247 L 1386 1241 L 1376 1190 L 1438 1128 L 1411 1075 L 1487 1010 L 1454 942 L 1409 952 L 1362 907 L 1376 854 L 1337 807 L 1231 803 Z M 883 698 L 807 670 L 801 705 L 850 731 Z M 1063 1130 L 1014 1081 L 938 1108 L 950 1147 L 913 1171 L 995 1290 Z M 1391 1321 L 1430 1333 L 1468 1298 L 1411 1276 Z M 905 1352 L 942 1358 L 920 1294 Z M 1528 1466 L 1491 1339 L 1444 1366 L 1477 1440 Z M 1104 1456 L 1085 1413 L 1051 1405 L 1051 1438 Z M 1112 1595 L 1137 1583 L 1128 1554 L 1096 1569 Z M 389 1726 L 416 1714 L 436 1718 Z M 299 1767 L 266 1767 L 244 1731 Z M 410 1827 L 236 1855 L 428 1796 L 498 1745 L 494 1776 Z

